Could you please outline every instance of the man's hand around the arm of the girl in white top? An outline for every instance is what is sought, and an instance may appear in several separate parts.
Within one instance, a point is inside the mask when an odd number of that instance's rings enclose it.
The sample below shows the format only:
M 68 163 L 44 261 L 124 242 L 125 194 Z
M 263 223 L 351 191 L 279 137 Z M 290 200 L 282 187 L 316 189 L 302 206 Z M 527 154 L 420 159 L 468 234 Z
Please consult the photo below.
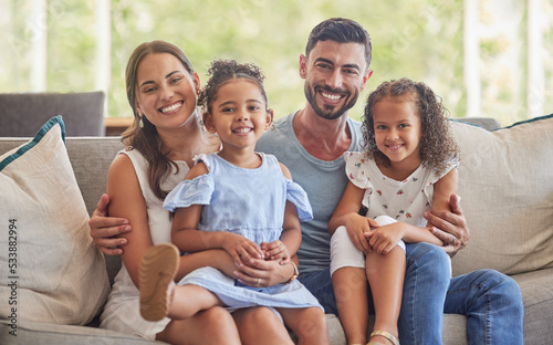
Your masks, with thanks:
M 470 230 L 461 209 L 461 198 L 451 195 L 449 203 L 452 212 L 430 210 L 425 213 L 430 231 L 446 245 L 444 250 L 452 258 L 459 250 L 467 247 L 470 238 Z

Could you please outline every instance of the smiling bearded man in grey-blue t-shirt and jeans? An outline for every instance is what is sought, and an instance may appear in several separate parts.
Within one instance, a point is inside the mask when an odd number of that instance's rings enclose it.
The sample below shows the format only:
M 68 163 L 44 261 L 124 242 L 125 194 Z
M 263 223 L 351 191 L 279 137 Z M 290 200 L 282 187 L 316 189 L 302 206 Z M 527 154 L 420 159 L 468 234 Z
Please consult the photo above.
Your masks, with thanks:
M 359 123 L 348 118 L 347 112 L 373 73 L 371 55 L 368 33 L 355 21 L 335 18 L 316 25 L 305 55 L 300 56 L 305 106 L 278 119 L 257 147 L 275 155 L 307 192 L 314 219 L 302 223 L 299 279 L 334 314 L 327 222 L 347 184 L 342 155 L 359 150 Z M 98 229 L 106 201 L 98 202 L 91 219 L 95 242 L 104 247 L 118 243 L 97 240 L 107 236 Z M 440 274 L 449 271 L 446 252 L 453 255 L 469 240 L 459 201 L 451 196 L 452 212 L 428 213 L 428 220 L 441 229 L 435 234 L 449 243 L 444 250 L 428 243 L 407 244 L 399 339 L 403 344 L 440 344 L 444 313 L 457 313 L 468 316 L 470 344 L 522 344 L 522 300 L 512 279 L 491 270 L 453 279 Z M 124 228 L 129 227 L 118 229 Z

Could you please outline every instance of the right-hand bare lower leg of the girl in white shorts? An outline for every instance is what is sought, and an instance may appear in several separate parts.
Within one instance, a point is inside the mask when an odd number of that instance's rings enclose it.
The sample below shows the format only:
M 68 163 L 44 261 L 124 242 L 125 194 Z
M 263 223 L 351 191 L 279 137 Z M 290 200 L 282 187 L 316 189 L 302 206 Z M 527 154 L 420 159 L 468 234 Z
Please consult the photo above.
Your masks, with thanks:
M 397 320 L 401 307 L 405 266 L 405 251 L 397 245 L 385 255 L 376 251 L 367 253 L 367 279 L 375 305 L 374 331 L 386 331 L 395 337 L 398 336 Z M 371 339 L 389 343 L 383 336 L 373 336 Z

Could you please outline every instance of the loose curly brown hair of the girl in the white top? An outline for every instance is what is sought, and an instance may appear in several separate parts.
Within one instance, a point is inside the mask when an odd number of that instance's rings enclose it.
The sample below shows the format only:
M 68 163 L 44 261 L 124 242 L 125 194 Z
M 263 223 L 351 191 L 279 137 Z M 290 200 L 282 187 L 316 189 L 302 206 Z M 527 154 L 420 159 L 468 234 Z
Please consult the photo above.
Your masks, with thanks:
M 444 172 L 448 161 L 459 156 L 459 147 L 449 127 L 448 111 L 444 107 L 441 97 L 428 85 L 405 77 L 384 82 L 368 95 L 362 124 L 362 148 L 365 156 L 384 166 L 390 165 L 389 158 L 378 149 L 375 142 L 373 108 L 384 98 L 403 96 L 413 97 L 420 119 L 419 155 L 422 164 L 437 174 Z

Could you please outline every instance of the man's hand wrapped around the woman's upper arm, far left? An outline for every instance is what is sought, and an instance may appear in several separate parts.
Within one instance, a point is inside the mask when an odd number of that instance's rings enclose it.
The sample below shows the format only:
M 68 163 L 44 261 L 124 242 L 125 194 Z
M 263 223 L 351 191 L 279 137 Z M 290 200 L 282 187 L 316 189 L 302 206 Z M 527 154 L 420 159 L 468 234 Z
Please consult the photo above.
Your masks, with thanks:
M 127 219 L 107 217 L 107 206 L 109 205 L 109 197 L 104 194 L 100 198 L 96 209 L 88 220 L 91 228 L 91 237 L 94 244 L 107 255 L 121 255 L 123 249 L 119 245 L 125 245 L 127 240 L 119 238 L 122 233 L 131 231 L 131 224 Z

